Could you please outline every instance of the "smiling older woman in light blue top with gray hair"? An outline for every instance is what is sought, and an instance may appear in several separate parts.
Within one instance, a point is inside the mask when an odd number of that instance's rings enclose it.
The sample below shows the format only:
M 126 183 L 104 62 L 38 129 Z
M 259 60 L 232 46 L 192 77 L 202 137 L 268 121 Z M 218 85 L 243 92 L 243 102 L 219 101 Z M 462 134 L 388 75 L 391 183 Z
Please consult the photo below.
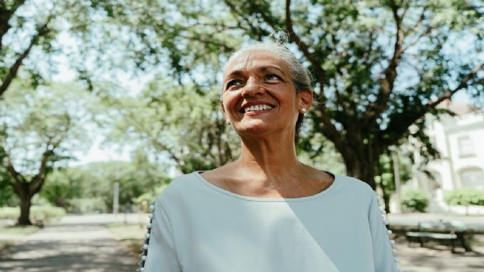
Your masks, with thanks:
M 269 42 L 232 54 L 222 100 L 240 157 L 160 194 L 139 271 L 399 271 L 372 189 L 297 160 L 312 90 L 288 49 Z

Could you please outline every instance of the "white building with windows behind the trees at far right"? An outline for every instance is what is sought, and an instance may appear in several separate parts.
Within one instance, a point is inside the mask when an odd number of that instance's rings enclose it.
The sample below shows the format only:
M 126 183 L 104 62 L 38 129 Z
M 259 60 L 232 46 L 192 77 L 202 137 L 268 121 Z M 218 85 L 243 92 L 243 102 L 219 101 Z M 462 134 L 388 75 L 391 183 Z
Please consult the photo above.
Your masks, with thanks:
M 413 179 L 404 184 L 403 191 L 408 187 L 425 191 L 431 197 L 427 211 L 465 213 L 464 207 L 447 206 L 444 192 L 484 189 L 484 112 L 462 102 L 444 101 L 439 107 L 456 114 L 425 117 L 427 135 L 441 159 L 429 162 L 425 167 L 427 173 L 415 169 Z M 418 165 L 418 150 L 414 158 Z M 468 212 L 484 214 L 484 207 L 471 206 Z

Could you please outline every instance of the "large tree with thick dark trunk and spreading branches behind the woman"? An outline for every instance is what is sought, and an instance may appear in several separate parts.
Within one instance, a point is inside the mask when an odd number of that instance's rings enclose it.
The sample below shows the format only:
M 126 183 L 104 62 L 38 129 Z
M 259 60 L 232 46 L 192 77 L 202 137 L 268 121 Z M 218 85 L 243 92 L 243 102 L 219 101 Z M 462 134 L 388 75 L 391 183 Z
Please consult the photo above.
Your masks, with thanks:
M 214 71 L 209 63 L 226 59 L 247 37 L 287 30 L 288 46 L 316 82 L 313 131 L 334 143 L 348 175 L 373 188 L 380 156 L 411 134 L 425 135 L 427 112 L 437 114 L 436 106 L 459 90 L 483 91 L 480 1 L 150 1 L 102 8 L 112 11 L 110 23 L 133 33 L 138 66 L 154 66 L 166 52 L 172 73 L 197 84 L 216 76 L 205 73 L 204 81 L 196 71 Z M 411 125 L 417 129 L 409 131 Z

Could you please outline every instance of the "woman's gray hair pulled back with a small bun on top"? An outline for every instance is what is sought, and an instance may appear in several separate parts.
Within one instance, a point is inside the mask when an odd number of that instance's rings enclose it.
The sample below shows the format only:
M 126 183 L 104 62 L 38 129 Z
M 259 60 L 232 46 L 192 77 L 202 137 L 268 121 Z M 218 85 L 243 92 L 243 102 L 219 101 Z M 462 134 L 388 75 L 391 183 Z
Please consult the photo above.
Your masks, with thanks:
M 282 33 L 282 34 L 281 34 Z M 287 47 L 285 47 L 285 42 L 288 40 L 286 32 L 276 32 L 276 35 L 282 35 L 282 37 L 276 37 L 273 40 L 275 42 L 257 42 L 254 45 L 249 45 L 247 47 L 242 47 L 237 51 L 233 52 L 228 61 L 225 63 L 223 67 L 223 71 L 225 71 L 225 67 L 227 66 L 232 59 L 235 59 L 240 54 L 248 51 L 266 51 L 272 54 L 275 54 L 277 57 L 281 58 L 285 64 L 288 65 L 291 78 L 293 79 L 293 84 L 296 90 L 296 93 L 300 93 L 302 90 L 312 90 L 311 88 L 311 73 L 309 70 L 302 66 L 300 61 L 295 57 L 295 55 L 289 51 Z M 223 93 L 223 86 L 222 86 L 222 93 Z M 221 97 L 220 97 L 221 98 Z M 295 126 L 295 138 L 294 141 L 297 143 L 299 140 L 299 130 L 302 126 L 302 122 L 304 121 L 304 114 L 297 115 L 297 122 Z

